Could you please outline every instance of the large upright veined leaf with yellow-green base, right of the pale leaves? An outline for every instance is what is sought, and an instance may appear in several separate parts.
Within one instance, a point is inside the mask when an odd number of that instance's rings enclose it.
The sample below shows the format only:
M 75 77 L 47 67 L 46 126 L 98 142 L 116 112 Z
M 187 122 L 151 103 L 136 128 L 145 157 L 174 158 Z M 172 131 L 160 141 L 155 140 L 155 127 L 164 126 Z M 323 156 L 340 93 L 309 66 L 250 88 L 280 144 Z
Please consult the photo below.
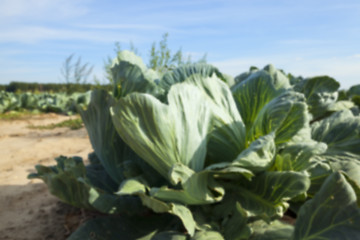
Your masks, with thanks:
M 304 96 L 290 90 L 287 77 L 271 65 L 250 74 L 232 92 L 246 126 L 247 145 L 271 132 L 276 144 L 286 143 L 308 127 Z

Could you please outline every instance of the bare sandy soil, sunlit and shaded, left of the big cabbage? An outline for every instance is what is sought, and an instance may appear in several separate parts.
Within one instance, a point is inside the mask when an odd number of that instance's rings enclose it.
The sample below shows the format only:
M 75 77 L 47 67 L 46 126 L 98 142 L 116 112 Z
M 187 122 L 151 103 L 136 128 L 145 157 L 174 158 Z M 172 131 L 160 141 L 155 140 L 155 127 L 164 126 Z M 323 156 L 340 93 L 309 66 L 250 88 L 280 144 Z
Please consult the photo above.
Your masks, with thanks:
M 29 129 L 69 119 L 42 114 L 0 120 L 0 238 L 66 239 L 81 222 L 81 210 L 60 203 L 40 180 L 28 180 L 36 164 L 54 165 L 59 155 L 87 159 L 92 151 L 85 128 Z

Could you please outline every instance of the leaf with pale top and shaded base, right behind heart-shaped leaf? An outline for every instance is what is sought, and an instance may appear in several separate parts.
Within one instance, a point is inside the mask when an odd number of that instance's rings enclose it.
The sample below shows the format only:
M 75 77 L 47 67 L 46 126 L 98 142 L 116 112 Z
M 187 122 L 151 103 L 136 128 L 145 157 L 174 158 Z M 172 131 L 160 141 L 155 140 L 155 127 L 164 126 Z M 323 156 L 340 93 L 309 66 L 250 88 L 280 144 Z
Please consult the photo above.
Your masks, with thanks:
M 192 75 L 186 82 L 198 86 L 212 110 L 208 156 L 213 162 L 232 161 L 245 148 L 245 125 L 229 87 L 216 76 Z

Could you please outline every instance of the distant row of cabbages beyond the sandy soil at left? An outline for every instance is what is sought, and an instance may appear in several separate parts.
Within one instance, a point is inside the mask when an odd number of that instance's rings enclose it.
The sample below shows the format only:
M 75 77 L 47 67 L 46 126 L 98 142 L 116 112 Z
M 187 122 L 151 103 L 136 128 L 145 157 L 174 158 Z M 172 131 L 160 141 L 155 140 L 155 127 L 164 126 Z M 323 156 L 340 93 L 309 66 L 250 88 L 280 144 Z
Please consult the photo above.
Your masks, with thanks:
M 0 91 L 0 113 L 37 110 L 71 115 L 77 106 L 89 104 L 90 92 L 73 93 L 12 93 Z

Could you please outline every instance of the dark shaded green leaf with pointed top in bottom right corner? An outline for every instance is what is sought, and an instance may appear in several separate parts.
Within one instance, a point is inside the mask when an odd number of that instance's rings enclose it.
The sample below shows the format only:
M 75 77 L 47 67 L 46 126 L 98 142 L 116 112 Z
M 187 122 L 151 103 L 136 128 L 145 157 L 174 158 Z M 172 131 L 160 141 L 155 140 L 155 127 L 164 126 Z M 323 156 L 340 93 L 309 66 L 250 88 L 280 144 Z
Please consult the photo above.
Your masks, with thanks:
M 293 239 L 357 239 L 360 208 L 344 176 L 331 174 L 315 197 L 300 209 Z

